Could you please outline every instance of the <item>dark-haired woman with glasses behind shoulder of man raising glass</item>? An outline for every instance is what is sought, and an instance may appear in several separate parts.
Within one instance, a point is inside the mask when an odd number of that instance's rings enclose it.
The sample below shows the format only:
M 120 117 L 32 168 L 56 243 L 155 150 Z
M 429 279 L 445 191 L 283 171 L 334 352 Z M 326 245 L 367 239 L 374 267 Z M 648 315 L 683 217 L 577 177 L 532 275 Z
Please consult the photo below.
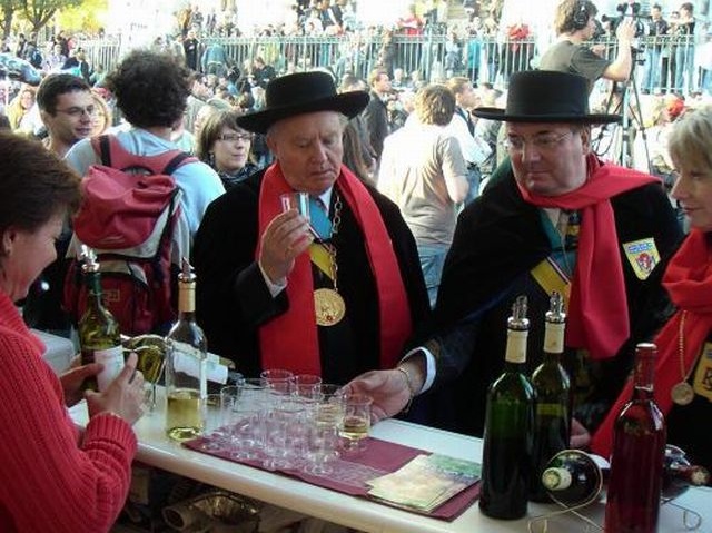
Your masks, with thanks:
M 226 189 L 258 170 L 250 161 L 253 134 L 237 126 L 236 111 L 214 111 L 198 134 L 197 156 L 218 172 Z

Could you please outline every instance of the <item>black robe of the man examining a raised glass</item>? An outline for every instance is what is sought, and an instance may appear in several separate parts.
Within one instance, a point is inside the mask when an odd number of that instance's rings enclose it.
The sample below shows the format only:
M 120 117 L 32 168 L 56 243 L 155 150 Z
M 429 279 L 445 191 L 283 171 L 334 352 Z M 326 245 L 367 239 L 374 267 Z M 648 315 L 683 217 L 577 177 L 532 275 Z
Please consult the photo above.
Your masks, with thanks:
M 255 261 L 263 175 L 264 170 L 250 176 L 210 204 L 196 234 L 192 257 L 198 276 L 197 317 L 208 338 L 208 349 L 235 361 L 246 376 L 258 375 L 263 369 L 259 326 L 289 306 L 286 292 L 271 297 Z M 338 189 L 338 180 L 335 187 Z M 397 206 L 367 188 L 393 241 L 415 328 L 429 315 L 415 240 Z M 338 289 L 346 302 L 347 317 L 337 326 L 319 327 L 322 376 L 325 382 L 344 384 L 380 366 L 375 279 L 364 234 L 346 203 L 339 231 L 332 243 L 337 249 Z M 315 287 L 324 284 L 315 274 Z M 289 349 L 287 344 L 285 349 Z

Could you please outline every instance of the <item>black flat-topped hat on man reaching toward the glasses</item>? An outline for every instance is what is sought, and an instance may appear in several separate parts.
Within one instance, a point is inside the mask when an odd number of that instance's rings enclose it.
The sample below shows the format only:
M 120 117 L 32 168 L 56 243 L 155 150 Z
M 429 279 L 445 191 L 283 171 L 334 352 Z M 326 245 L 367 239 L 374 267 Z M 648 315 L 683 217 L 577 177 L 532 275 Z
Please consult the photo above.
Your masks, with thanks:
M 507 107 L 478 107 L 475 117 L 508 122 L 620 122 L 619 115 L 589 112 L 589 80 L 554 70 L 524 70 L 510 77 Z

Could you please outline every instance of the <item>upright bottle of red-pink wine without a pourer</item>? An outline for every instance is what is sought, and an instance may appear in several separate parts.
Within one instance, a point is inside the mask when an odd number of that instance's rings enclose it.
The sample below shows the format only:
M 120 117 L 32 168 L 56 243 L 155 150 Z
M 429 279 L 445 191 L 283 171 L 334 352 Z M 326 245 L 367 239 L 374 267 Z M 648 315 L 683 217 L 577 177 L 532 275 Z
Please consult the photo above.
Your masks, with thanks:
M 606 533 L 654 533 L 657 529 L 666 432 L 653 398 L 656 353 L 654 344 L 636 346 L 633 399 L 623 406 L 613 426 Z

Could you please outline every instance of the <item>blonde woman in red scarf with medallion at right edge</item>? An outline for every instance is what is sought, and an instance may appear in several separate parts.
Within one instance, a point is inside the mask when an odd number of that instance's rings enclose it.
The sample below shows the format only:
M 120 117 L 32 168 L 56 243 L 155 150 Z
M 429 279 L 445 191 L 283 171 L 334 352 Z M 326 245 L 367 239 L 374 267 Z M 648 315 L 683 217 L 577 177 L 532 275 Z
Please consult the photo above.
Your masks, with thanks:
M 690 221 L 690 234 L 662 277 L 675 314 L 654 338 L 655 399 L 665 415 L 668 443 L 682 447 L 693 464 L 712 470 L 712 107 L 686 111 L 668 139 L 676 170 L 672 187 Z M 607 456 L 620 407 L 632 382 L 593 436 L 594 452 Z

